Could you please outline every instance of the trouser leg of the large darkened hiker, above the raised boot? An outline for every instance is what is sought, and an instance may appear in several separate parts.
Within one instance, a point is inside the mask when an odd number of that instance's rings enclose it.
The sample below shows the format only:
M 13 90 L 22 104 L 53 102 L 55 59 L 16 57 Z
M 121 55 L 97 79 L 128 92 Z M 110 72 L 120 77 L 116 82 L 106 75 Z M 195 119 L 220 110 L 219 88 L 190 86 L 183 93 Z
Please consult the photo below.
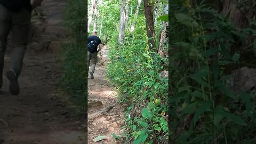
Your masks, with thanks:
M 22 9 L 12 12 L 12 40 L 14 50 L 11 55 L 11 69 L 17 77 L 20 75 L 29 38 L 31 12 Z

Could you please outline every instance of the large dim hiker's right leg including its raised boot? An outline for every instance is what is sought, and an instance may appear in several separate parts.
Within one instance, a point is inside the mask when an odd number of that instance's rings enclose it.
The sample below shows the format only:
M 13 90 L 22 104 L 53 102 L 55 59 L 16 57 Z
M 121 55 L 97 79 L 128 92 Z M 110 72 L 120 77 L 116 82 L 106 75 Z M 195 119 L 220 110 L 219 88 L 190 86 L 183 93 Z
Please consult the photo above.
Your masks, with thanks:
M 22 70 L 23 58 L 28 43 L 31 12 L 27 9 L 11 12 L 11 19 L 14 50 L 11 54 L 10 70 L 7 71 L 6 76 L 10 81 L 10 92 L 17 95 L 20 92 L 18 77 Z

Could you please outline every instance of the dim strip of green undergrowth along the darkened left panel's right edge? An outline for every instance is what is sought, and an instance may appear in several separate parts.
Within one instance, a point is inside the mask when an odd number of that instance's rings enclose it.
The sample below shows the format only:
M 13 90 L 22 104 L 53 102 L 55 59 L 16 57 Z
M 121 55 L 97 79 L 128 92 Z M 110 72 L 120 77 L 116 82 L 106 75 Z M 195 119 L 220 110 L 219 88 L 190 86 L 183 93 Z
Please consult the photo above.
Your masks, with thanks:
M 63 45 L 61 89 L 70 94 L 78 110 L 87 111 L 87 25 L 85 1 L 68 1 L 65 26 L 69 29 L 69 43 Z M 71 101 L 70 101 L 71 102 Z

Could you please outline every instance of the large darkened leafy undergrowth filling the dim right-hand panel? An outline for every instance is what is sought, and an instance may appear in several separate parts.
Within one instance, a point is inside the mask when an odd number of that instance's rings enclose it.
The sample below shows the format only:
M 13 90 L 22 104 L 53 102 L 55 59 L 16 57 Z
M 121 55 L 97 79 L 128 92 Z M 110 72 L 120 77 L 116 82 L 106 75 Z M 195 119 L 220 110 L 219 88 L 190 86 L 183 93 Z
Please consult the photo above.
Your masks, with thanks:
M 211 6 L 171 1 L 170 140 L 172 143 L 256 143 L 255 94 L 229 88 L 223 67 L 255 29 L 237 29 Z

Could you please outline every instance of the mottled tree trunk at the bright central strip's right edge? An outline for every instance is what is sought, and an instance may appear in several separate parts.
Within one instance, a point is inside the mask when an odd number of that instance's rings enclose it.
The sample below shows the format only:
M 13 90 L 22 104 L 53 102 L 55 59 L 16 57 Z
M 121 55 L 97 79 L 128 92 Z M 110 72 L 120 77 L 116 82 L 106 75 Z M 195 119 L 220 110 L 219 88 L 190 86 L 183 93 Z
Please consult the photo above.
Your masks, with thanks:
M 166 0 L 165 0 L 166 1 Z M 168 4 L 163 4 L 163 15 L 168 14 Z M 161 55 L 162 58 L 168 54 L 168 22 L 162 22 L 162 29 L 159 37 L 159 47 L 158 47 L 158 54 Z

